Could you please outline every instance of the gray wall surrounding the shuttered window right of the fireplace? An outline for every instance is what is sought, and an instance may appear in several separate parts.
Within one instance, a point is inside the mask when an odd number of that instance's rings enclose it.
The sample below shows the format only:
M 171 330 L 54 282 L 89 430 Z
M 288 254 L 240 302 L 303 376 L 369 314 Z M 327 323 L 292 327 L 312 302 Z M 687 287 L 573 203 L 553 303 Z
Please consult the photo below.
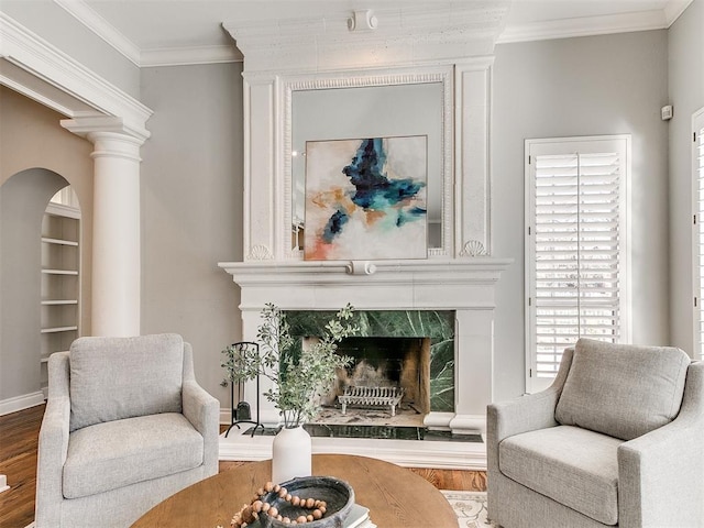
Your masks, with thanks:
M 650 31 L 496 46 L 492 226 L 512 257 L 497 292 L 495 399 L 525 388 L 524 141 L 632 134 L 632 340 L 669 342 L 668 35 Z

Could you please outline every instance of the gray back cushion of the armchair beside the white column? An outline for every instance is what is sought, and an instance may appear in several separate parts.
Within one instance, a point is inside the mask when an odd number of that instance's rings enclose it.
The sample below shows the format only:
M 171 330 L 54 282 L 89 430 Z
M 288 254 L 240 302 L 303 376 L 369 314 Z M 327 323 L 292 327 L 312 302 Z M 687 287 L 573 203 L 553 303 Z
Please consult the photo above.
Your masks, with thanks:
M 177 334 L 77 339 L 70 346 L 70 430 L 182 413 L 183 358 Z

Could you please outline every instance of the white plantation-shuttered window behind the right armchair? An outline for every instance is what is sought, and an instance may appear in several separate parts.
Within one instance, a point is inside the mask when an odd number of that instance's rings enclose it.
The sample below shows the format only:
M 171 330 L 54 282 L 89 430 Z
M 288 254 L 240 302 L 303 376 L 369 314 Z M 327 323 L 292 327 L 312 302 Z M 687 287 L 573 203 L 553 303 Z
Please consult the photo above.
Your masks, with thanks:
M 629 145 L 628 136 L 526 142 L 530 392 L 552 382 L 579 338 L 627 341 Z

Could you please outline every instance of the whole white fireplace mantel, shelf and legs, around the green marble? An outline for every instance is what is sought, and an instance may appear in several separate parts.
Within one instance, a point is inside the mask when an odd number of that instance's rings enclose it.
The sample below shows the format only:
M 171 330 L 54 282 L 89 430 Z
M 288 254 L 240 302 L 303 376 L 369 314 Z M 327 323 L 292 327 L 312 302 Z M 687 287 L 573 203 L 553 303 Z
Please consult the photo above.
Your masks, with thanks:
M 512 262 L 484 256 L 219 265 L 241 287 L 245 341 L 255 340 L 260 311 L 267 302 L 284 310 L 337 310 L 348 302 L 358 310 L 453 310 L 454 413 L 430 413 L 425 424 L 466 433 L 485 430 L 486 406 L 493 400 L 495 285 Z M 245 386 L 245 399 L 256 400 L 252 383 Z M 262 421 L 278 424 L 272 404 L 260 405 Z

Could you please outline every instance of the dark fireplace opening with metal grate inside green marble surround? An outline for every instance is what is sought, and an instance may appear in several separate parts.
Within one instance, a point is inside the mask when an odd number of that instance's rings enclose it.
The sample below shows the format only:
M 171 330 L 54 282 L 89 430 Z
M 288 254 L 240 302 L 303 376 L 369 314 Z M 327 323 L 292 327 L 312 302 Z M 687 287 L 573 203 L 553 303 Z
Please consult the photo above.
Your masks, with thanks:
M 430 339 L 398 337 L 348 338 L 339 354 L 352 358 L 321 395 L 323 415 L 426 415 L 430 411 Z

